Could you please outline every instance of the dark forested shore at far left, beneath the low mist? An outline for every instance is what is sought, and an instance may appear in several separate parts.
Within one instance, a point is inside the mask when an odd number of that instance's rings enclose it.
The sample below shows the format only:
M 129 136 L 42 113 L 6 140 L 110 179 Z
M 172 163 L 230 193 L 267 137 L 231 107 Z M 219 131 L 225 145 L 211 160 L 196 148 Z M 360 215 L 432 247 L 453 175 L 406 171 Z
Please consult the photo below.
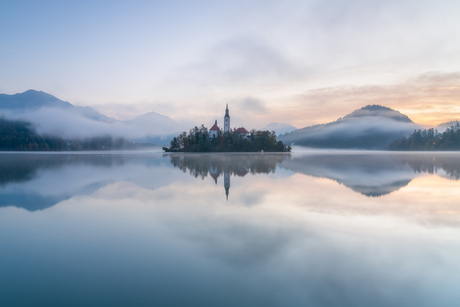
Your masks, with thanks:
M 95 137 L 65 140 L 58 137 L 40 136 L 31 123 L 12 121 L 0 117 L 1 151 L 62 151 L 62 150 L 110 150 L 132 148 L 133 144 L 122 138 Z

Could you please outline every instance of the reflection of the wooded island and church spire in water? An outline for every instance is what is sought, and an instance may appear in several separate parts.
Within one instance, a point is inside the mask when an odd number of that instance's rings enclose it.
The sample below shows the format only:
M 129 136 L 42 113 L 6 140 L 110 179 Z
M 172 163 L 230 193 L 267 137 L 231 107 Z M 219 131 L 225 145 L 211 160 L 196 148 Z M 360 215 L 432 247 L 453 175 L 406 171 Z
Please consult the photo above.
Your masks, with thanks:
M 165 155 L 167 156 L 167 155 Z M 244 177 L 251 174 L 274 173 L 276 166 L 282 163 L 289 154 L 204 154 L 204 155 L 169 155 L 171 164 L 184 173 L 205 178 L 208 174 L 214 179 L 224 177 L 225 195 L 228 200 L 231 175 Z

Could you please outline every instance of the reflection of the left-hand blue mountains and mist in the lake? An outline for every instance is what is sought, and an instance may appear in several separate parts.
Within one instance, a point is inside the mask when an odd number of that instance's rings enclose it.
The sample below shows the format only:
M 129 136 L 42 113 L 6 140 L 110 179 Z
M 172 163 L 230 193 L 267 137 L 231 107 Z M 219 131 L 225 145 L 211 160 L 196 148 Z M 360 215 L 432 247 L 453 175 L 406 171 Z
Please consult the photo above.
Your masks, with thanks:
M 138 168 L 145 169 L 161 160 L 159 156 L 127 154 L 1 154 L 0 157 L 0 207 L 15 206 L 28 211 L 49 208 L 75 195 L 92 194 L 126 177 L 135 181 L 136 175 L 142 176 Z M 140 185 L 157 184 L 154 178 L 148 179 L 140 179 Z

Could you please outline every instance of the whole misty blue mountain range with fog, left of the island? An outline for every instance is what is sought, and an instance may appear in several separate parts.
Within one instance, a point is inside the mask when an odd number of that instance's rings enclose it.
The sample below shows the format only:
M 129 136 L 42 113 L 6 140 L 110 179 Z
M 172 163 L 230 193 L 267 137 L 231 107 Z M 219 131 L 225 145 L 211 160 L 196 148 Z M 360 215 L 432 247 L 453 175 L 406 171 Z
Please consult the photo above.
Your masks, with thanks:
M 169 144 L 181 131 L 174 120 L 155 112 L 120 121 L 90 107 L 74 106 L 35 90 L 0 94 L 0 115 L 13 121 L 29 122 L 39 136 L 73 140 L 111 137 L 138 143 Z

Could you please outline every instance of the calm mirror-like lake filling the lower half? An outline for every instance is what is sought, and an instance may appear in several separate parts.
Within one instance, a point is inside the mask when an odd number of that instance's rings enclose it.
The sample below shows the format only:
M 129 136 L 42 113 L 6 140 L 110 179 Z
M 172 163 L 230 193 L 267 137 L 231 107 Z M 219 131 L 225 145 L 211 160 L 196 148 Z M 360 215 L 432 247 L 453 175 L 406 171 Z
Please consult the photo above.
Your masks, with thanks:
M 460 154 L 1 153 L 0 306 L 459 306 Z

